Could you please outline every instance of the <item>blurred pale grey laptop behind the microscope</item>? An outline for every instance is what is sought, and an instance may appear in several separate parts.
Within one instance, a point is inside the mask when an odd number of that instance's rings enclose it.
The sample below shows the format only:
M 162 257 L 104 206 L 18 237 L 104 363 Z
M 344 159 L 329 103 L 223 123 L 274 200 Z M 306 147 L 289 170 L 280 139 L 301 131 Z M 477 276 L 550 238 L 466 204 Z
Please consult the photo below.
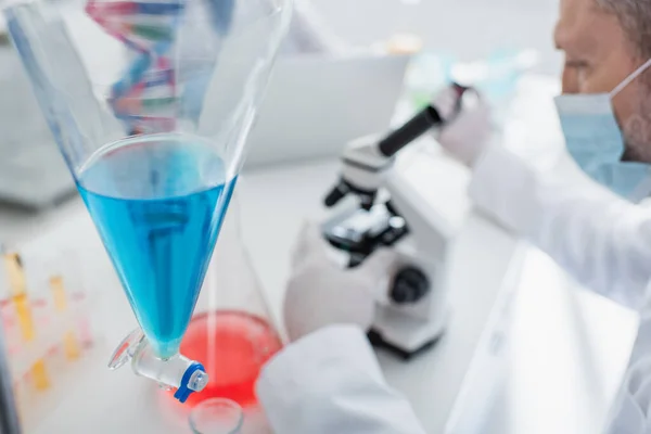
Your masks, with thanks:
M 280 59 L 248 138 L 245 168 L 337 156 L 390 127 L 407 55 Z

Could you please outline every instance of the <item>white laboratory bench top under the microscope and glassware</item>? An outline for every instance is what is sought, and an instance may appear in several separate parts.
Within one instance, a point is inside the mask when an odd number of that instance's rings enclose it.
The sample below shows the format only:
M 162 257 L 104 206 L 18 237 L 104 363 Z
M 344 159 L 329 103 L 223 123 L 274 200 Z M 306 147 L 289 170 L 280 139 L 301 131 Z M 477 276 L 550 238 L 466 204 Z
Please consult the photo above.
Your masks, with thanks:
M 558 82 L 540 78 L 523 86 L 514 101 L 519 116 L 503 139 L 513 152 L 542 166 L 553 154 L 553 138 L 535 131 L 535 139 L 524 140 L 532 131 L 522 126 L 534 116 L 542 131 L 553 130 L 545 119 L 556 122 L 550 120 L 550 95 L 557 89 Z M 528 110 L 520 110 L 519 101 Z M 467 195 L 471 174 L 432 139 L 406 151 L 396 169 L 454 224 L 457 237 L 446 333 L 410 361 L 379 352 L 387 382 L 409 399 L 431 434 L 597 432 L 603 421 L 591 414 L 607 418 L 637 319 L 577 291 L 551 259 L 474 210 Z M 306 219 L 324 217 L 322 199 L 337 173 L 333 157 L 257 168 L 239 181 L 243 240 L 278 323 L 293 243 Z M 56 410 L 33 432 L 189 432 L 156 385 L 128 368 L 106 369 L 115 345 L 136 321 L 80 201 L 34 218 L 16 216 L 0 214 L 0 237 L 12 235 L 27 251 L 78 248 L 84 253 L 79 269 L 90 276 L 100 307 L 94 349 Z

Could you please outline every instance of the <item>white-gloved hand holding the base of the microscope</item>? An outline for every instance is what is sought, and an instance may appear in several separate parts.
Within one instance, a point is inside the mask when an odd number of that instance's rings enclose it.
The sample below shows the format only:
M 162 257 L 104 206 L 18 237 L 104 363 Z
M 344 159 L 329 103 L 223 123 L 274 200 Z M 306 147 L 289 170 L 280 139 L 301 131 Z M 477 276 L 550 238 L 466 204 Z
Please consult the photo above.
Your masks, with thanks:
M 292 342 L 336 323 L 367 330 L 373 320 L 375 301 L 388 292 L 397 264 L 393 251 L 378 250 L 358 267 L 344 269 L 328 257 L 328 248 L 319 228 L 307 224 L 294 250 L 283 306 Z

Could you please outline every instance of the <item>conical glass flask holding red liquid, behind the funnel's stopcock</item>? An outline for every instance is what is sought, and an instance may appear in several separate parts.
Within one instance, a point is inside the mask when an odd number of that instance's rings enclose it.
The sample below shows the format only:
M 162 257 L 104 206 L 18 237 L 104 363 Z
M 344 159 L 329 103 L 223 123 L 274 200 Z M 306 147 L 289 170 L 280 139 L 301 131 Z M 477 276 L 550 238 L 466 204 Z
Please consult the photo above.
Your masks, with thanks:
M 210 378 L 194 406 L 210 397 L 255 411 L 260 369 L 283 346 L 244 241 L 239 201 L 233 197 L 181 353 L 202 360 Z

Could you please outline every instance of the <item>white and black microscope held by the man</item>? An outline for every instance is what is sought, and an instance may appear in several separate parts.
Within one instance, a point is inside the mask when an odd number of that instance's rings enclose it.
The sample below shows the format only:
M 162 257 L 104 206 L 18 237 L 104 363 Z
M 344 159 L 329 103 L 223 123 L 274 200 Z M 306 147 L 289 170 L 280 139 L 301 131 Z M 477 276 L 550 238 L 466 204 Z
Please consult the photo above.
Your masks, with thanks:
M 326 197 L 333 207 L 348 195 L 357 200 L 322 226 L 326 240 L 356 267 L 379 247 L 398 254 L 388 294 L 375 302 L 368 336 L 378 347 L 405 360 L 432 347 L 448 317 L 447 258 L 455 231 L 394 169 L 396 155 L 416 139 L 441 129 L 462 110 L 473 89 L 452 84 L 445 98 L 423 108 L 385 137 L 349 142 L 342 155 L 339 183 Z M 444 93 L 442 93 L 444 94 Z

